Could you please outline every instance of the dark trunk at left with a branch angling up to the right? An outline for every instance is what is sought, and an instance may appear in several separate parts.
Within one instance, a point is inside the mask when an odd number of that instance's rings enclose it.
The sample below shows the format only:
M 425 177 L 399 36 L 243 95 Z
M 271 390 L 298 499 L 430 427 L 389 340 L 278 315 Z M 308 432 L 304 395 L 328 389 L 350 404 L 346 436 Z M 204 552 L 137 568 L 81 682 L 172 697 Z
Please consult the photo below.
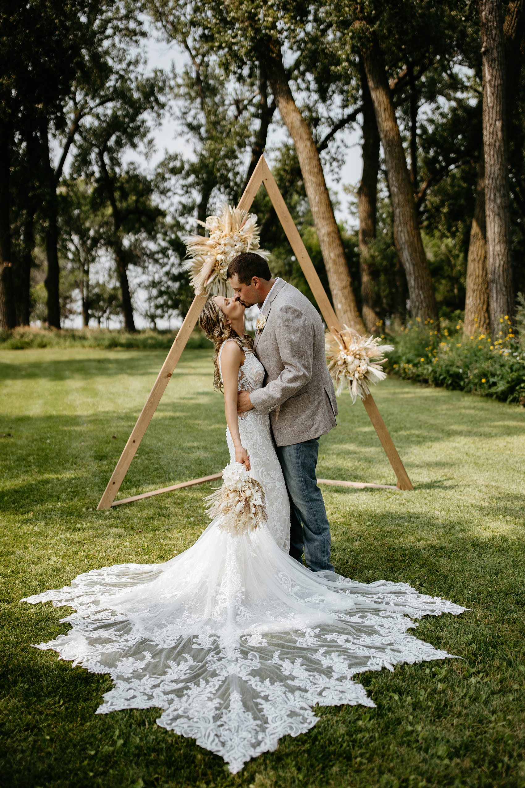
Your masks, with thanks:
M 47 325 L 55 329 L 60 328 L 60 268 L 58 265 L 58 226 L 57 226 L 57 184 L 54 177 L 54 167 L 51 165 L 48 128 L 44 124 L 41 128 L 41 143 L 43 146 L 43 165 L 46 171 L 46 199 L 44 210 L 46 213 L 46 240 L 47 273 L 44 284 L 47 291 Z

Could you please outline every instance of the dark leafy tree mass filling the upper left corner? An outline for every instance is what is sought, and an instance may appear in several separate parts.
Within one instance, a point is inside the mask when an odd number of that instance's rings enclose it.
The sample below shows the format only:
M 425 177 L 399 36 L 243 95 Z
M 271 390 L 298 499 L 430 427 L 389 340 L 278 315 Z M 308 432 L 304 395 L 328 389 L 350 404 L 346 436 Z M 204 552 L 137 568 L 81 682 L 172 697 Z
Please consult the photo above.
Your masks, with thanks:
M 8 122 L 0 137 L 6 145 L 2 159 L 11 160 L 11 204 L 2 203 L 2 210 L 11 218 L 17 315 L 26 322 L 43 317 L 32 309 L 30 269 L 43 254 L 54 258 L 57 212 L 68 214 L 67 198 L 57 200 L 65 162 L 76 148 L 79 130 L 129 80 L 143 20 L 140 0 L 8 5 L 9 13 L 2 12 L 0 43 L 0 115 L 2 124 Z M 66 218 L 61 232 L 65 225 Z M 66 241 L 58 241 L 63 251 Z M 63 290 L 62 304 L 70 296 L 67 287 Z

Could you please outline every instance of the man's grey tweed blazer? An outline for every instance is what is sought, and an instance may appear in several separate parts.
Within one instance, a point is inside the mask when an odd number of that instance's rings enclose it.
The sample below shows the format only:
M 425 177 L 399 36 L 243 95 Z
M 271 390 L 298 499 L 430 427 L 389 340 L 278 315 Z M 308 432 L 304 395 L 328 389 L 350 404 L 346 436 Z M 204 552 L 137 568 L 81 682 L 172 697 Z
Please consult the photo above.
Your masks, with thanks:
M 318 438 L 335 427 L 337 403 L 324 354 L 323 322 L 306 296 L 279 280 L 262 312 L 264 329 L 253 350 L 266 370 L 264 387 L 250 395 L 269 413 L 278 446 Z

